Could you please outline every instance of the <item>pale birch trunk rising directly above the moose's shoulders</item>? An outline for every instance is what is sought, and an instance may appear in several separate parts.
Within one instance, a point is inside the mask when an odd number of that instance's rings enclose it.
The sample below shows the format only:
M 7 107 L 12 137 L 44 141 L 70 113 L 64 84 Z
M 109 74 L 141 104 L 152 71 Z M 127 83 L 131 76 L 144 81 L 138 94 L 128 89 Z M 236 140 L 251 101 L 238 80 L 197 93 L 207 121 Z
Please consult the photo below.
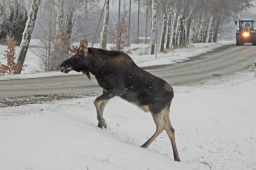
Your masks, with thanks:
M 103 28 L 100 38 L 100 47 L 106 49 L 108 36 L 109 0 L 106 0 Z

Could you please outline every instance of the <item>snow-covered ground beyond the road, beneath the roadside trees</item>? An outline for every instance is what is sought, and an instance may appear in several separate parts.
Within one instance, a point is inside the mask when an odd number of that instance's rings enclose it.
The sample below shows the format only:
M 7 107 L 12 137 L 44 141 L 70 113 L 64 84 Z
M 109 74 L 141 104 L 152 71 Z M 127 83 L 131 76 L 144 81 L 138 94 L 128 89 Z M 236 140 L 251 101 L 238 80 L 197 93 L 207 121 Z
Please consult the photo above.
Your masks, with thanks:
M 5 79 L 24 79 L 24 78 L 36 78 L 36 77 L 52 77 L 52 76 L 63 76 L 63 73 L 58 71 L 44 72 L 44 65 L 42 60 L 37 53 L 39 40 L 31 40 L 29 50 L 26 55 L 24 62 L 24 71 L 20 75 L 6 75 L 0 76 L 0 80 Z M 233 41 L 220 41 L 217 43 L 195 43 L 188 46 L 187 48 L 175 49 L 172 51 L 165 51 L 164 53 L 157 53 L 157 59 L 155 55 L 149 55 L 150 46 L 145 44 L 131 44 L 130 47 L 125 48 L 124 51 L 127 52 L 134 62 L 137 63 L 140 67 L 147 67 L 152 65 L 166 65 L 173 64 L 176 62 L 182 62 L 188 60 L 190 57 L 198 56 L 199 54 L 212 51 L 223 45 L 234 44 Z M 107 48 L 110 49 L 113 44 L 108 44 Z M 89 44 L 90 47 L 90 44 Z M 94 47 L 98 48 L 99 44 L 95 44 Z M 5 45 L 0 45 L 0 63 L 6 64 L 6 58 L 4 57 L 4 51 L 6 49 Z M 16 48 L 16 53 L 19 50 L 19 47 Z M 70 74 L 78 74 L 72 71 Z M 80 73 L 81 74 L 81 73 Z

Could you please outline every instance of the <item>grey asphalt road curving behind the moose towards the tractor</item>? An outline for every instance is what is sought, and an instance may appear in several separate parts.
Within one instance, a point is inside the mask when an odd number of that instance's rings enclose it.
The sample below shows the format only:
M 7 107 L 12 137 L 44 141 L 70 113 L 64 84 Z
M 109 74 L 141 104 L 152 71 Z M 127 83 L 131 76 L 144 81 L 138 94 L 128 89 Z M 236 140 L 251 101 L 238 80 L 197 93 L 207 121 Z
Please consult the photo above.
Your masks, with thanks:
M 146 70 L 175 85 L 241 71 L 254 65 L 255 59 L 256 46 L 230 45 L 194 57 L 187 62 L 150 67 Z M 70 94 L 86 91 L 102 91 L 93 76 L 91 81 L 85 75 L 0 81 L 0 97 Z

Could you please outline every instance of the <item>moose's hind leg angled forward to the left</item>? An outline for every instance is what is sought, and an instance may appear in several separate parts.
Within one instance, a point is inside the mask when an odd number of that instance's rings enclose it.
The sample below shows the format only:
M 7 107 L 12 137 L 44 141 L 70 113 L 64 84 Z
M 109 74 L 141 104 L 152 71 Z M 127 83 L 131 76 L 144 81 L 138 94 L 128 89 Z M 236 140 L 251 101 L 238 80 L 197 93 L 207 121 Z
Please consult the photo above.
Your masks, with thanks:
M 152 113 L 152 116 L 153 116 L 154 122 L 155 122 L 156 127 L 157 127 L 156 132 L 141 147 L 147 148 L 157 138 L 157 136 L 159 136 L 160 133 L 162 133 L 163 130 L 165 129 L 165 123 L 163 121 L 163 113 L 162 112 L 160 112 L 160 113 Z

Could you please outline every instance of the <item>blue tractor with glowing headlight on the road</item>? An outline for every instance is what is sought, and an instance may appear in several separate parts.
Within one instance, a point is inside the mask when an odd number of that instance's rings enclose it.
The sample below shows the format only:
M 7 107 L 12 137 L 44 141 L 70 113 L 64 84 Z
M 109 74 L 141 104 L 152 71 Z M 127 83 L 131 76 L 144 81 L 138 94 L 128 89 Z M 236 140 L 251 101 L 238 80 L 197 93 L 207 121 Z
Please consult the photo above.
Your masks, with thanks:
M 237 21 L 235 24 L 237 25 Z M 256 21 L 253 19 L 239 19 L 239 27 L 236 30 L 236 45 L 252 43 L 256 45 Z

